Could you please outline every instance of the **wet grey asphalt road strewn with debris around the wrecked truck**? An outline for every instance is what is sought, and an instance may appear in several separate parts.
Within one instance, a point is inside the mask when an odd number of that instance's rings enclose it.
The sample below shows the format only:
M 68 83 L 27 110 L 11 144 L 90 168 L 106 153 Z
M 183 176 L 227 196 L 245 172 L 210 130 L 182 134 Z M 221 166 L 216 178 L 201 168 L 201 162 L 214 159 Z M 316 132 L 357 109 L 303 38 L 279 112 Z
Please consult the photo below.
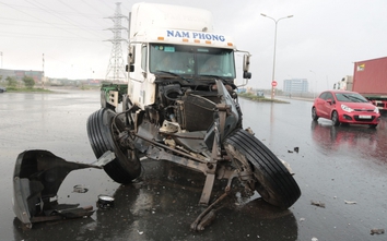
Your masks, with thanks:
M 86 134 L 87 117 L 99 108 L 99 92 L 0 94 L 0 240 L 387 240 L 387 118 L 376 130 L 313 122 L 312 103 L 260 104 L 241 99 L 244 126 L 250 126 L 280 158 L 290 162 L 302 196 L 289 210 L 259 198 L 224 202 L 203 232 L 190 224 L 204 177 L 171 164 L 143 160 L 144 176 L 133 185 L 113 182 L 103 170 L 70 172 L 59 203 L 93 205 L 98 194 L 115 196 L 115 207 L 90 218 L 36 224 L 26 229 L 12 210 L 12 173 L 20 153 L 47 149 L 71 161 L 95 157 Z M 300 152 L 294 152 L 298 147 Z M 82 184 L 86 193 L 73 192 Z M 218 182 L 213 195 L 222 194 Z M 310 202 L 320 202 L 318 207 Z M 347 204 L 345 201 L 355 202 Z

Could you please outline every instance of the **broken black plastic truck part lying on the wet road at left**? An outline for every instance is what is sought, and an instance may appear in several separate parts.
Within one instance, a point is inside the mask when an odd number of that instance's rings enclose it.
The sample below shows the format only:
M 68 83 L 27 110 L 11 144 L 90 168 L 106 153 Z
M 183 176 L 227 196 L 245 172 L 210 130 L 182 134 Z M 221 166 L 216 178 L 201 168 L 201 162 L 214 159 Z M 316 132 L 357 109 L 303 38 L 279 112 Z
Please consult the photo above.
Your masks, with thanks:
M 73 170 L 98 168 L 115 159 L 105 153 L 92 165 L 71 162 L 48 150 L 25 150 L 19 154 L 13 172 L 13 212 L 27 228 L 33 222 L 91 216 L 92 206 L 58 204 L 57 192 L 62 181 Z

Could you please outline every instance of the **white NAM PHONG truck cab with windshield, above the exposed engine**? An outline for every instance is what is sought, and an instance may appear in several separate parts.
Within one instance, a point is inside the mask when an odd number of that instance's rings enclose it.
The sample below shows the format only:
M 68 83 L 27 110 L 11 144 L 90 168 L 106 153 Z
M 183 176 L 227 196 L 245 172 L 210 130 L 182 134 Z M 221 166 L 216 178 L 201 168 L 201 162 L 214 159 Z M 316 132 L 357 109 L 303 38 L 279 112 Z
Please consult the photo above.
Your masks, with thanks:
M 194 85 L 219 76 L 234 83 L 236 46 L 214 33 L 208 10 L 141 2 L 129 19 L 128 95 L 134 105 L 154 104 L 157 80 Z

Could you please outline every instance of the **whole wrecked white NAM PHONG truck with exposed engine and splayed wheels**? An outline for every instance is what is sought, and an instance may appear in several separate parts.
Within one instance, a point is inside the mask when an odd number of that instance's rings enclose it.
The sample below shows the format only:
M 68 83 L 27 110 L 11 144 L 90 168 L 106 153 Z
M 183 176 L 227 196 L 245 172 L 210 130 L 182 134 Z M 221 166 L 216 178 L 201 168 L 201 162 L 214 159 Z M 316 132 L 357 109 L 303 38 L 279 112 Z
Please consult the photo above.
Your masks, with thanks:
M 242 73 L 235 68 L 238 55 Z M 249 64 L 247 51 L 214 32 L 209 11 L 133 4 L 128 84 L 103 85 L 102 109 L 87 121 L 96 157 L 106 150 L 117 156 L 105 171 L 119 183 L 131 182 L 145 156 L 202 172 L 202 205 L 210 203 L 215 179 L 228 180 L 225 193 L 238 179 L 247 193 L 257 191 L 266 202 L 289 208 L 301 195 L 297 183 L 283 161 L 243 128 L 236 80 L 241 74 L 242 85 L 247 84 Z M 209 213 L 191 229 L 201 230 Z

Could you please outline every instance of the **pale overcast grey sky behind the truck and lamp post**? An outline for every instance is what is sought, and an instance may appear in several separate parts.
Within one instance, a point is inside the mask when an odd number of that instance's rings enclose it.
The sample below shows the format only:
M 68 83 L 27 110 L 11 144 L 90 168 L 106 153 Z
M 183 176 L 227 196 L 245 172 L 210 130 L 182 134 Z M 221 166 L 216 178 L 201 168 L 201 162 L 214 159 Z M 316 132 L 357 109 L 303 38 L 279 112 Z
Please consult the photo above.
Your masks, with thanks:
M 0 68 L 44 70 L 48 77 L 104 79 L 112 51 L 106 40 L 113 38 L 105 31 L 113 21 L 104 17 L 114 15 L 116 2 L 128 15 L 137 1 L 0 0 Z M 275 20 L 294 15 L 278 22 L 279 88 L 283 80 L 307 79 L 310 91 L 320 92 L 352 75 L 353 62 L 387 56 L 385 0 L 150 2 L 210 10 L 215 32 L 233 36 L 238 49 L 253 55 L 249 86 L 255 88 L 270 88 L 273 68 L 275 24 L 260 13 Z

